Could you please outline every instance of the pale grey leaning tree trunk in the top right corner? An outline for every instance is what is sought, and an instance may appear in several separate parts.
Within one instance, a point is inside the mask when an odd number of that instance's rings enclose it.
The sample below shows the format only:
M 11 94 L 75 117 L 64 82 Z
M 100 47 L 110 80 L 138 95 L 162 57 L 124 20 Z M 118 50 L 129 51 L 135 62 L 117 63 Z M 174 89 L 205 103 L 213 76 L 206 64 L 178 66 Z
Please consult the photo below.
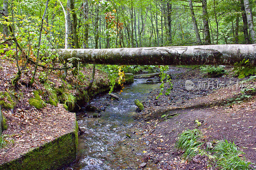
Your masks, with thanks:
M 252 38 L 252 44 L 256 42 L 255 32 L 253 29 L 253 18 L 252 18 L 252 8 L 249 4 L 249 0 L 244 0 L 244 10 L 247 18 L 247 23 L 249 27 L 250 37 Z

